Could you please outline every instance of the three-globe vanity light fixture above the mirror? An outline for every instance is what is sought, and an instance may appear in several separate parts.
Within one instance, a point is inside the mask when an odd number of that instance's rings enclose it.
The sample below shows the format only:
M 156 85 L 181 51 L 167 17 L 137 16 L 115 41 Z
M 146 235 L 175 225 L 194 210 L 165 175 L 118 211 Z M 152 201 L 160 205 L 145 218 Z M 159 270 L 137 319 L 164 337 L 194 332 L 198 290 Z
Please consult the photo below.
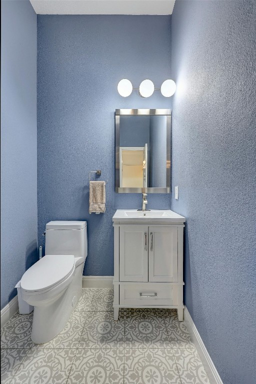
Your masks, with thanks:
M 118 82 L 117 90 L 122 97 L 129 96 L 132 90 L 138 90 L 141 97 L 151 96 L 154 90 L 160 90 L 164 97 L 170 97 L 176 90 L 176 84 L 173 80 L 167 79 L 163 81 L 160 88 L 155 88 L 153 82 L 146 79 L 140 83 L 139 88 L 133 88 L 130 80 L 123 78 Z

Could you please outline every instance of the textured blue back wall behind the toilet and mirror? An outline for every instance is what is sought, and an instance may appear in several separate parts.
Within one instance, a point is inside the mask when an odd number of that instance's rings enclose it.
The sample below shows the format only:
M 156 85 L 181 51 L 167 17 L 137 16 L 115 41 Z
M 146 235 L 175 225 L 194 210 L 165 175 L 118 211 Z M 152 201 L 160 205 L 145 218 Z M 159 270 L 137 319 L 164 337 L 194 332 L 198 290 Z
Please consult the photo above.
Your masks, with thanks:
M 114 192 L 115 108 L 170 108 L 159 91 L 147 98 L 117 92 L 170 77 L 170 16 L 37 16 L 38 243 L 54 219 L 88 221 L 86 275 L 113 274 L 112 216 L 138 208 L 141 194 Z M 106 212 L 88 214 L 88 172 L 107 180 Z M 170 195 L 148 196 L 149 208 L 169 208 Z

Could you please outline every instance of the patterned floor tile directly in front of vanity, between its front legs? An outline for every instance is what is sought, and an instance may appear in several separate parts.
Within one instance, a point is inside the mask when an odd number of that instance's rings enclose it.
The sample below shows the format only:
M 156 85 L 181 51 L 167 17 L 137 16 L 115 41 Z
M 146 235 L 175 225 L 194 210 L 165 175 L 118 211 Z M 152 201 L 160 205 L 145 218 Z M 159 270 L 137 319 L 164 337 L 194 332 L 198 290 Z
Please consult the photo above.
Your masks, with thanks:
M 136 309 L 122 313 L 125 313 L 124 348 L 171 347 L 161 311 Z

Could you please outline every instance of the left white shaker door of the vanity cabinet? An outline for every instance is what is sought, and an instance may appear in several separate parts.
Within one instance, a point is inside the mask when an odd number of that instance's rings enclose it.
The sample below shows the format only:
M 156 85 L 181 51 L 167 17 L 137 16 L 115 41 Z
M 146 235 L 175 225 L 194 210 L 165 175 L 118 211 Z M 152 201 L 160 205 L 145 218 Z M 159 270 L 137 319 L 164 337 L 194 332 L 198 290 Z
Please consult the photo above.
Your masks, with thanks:
M 148 281 L 148 226 L 120 225 L 119 280 Z

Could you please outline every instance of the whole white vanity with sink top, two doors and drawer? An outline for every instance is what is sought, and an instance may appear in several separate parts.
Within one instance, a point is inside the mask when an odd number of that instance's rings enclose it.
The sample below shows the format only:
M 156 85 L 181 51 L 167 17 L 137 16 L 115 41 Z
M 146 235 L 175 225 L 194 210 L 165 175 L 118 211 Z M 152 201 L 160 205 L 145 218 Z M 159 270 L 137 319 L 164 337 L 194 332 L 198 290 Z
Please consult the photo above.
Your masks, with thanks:
M 117 209 L 114 227 L 114 319 L 120 307 L 177 308 L 183 320 L 183 228 L 171 210 Z

